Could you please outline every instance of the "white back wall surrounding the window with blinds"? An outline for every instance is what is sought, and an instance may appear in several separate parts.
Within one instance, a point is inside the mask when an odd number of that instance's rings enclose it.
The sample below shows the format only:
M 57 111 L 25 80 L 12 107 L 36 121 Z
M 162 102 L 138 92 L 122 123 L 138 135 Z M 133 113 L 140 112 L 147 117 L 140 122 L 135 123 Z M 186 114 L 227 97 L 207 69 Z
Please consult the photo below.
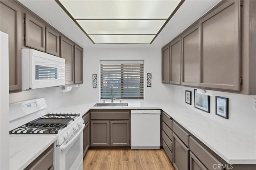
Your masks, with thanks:
M 170 100 L 170 86 L 161 83 L 160 48 L 86 48 L 84 50 L 84 84 L 73 88 L 74 101 L 98 101 L 98 88 L 92 88 L 92 74 L 98 74 L 100 60 L 144 60 L 144 100 Z M 152 73 L 152 87 L 146 87 L 146 73 Z

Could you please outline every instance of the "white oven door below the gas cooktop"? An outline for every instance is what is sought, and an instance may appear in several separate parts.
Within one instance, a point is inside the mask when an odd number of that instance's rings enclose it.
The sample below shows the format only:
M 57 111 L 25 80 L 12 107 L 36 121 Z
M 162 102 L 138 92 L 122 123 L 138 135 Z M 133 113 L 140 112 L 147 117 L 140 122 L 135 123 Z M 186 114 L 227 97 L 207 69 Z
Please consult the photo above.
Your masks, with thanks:
M 84 124 L 66 145 L 56 147 L 56 170 L 83 169 L 83 129 Z

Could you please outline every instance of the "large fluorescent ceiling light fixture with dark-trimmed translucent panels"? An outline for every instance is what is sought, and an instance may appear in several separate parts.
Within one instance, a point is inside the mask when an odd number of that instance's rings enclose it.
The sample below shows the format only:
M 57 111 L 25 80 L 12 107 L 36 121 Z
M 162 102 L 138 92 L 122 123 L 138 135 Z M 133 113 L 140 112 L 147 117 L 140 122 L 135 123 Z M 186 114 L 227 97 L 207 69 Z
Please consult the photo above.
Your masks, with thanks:
M 184 1 L 56 0 L 56 2 L 93 43 L 150 44 Z

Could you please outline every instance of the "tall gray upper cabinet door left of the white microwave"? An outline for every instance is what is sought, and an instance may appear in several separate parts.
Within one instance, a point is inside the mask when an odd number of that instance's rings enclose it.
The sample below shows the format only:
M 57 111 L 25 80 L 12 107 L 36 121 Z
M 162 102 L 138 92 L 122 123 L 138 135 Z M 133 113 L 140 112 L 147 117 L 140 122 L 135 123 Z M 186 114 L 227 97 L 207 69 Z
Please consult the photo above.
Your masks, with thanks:
M 0 31 L 8 34 L 9 91 L 21 90 L 21 10 L 10 1 L 0 2 Z

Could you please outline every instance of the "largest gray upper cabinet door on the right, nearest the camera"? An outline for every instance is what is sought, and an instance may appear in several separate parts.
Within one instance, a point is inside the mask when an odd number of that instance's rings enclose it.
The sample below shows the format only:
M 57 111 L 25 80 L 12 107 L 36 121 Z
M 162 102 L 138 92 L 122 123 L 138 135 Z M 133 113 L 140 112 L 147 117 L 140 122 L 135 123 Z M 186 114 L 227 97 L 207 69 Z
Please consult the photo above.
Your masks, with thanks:
M 202 87 L 240 90 L 240 1 L 224 1 L 199 20 Z

